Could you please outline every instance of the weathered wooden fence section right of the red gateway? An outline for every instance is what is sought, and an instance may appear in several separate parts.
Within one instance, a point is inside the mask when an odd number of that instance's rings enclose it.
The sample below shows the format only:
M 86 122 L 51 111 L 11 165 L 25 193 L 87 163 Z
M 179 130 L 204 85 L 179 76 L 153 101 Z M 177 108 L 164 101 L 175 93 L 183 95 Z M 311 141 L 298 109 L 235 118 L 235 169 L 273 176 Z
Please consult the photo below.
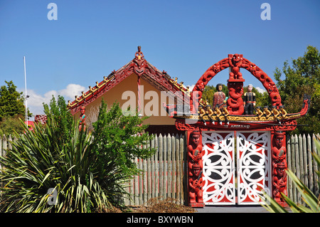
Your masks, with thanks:
M 317 134 L 319 137 L 319 134 Z M 288 169 L 291 169 L 294 174 L 300 179 L 308 188 L 319 196 L 319 177 L 316 171 L 319 171 L 316 161 L 311 153 L 319 154 L 316 151 L 316 144 L 314 142 L 315 134 L 295 134 L 287 137 L 287 164 Z M 294 186 L 291 179 L 287 181 L 288 196 L 297 204 L 302 204 L 302 197 L 299 191 Z

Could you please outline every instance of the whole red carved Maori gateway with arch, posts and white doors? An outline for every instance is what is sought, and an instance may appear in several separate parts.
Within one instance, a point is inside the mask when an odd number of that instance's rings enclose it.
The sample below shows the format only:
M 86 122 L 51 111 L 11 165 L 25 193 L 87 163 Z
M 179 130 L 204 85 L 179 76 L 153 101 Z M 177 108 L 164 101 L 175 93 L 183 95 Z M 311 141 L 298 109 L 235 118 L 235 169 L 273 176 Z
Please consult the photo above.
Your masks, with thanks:
M 229 97 L 223 110 L 213 110 L 202 100 L 202 93 L 208 82 L 226 68 L 230 68 Z M 270 96 L 272 112 L 257 108 L 256 115 L 243 115 L 245 79 L 240 68 L 260 80 Z M 176 119 L 176 128 L 187 132 L 189 206 L 258 204 L 262 189 L 285 206 L 281 197 L 287 194 L 285 132 L 297 127 L 296 119 L 306 115 L 309 105 L 310 98 L 305 97 L 300 112 L 287 113 L 272 79 L 241 54 L 229 54 L 210 66 L 191 91 L 190 107 L 176 105 L 173 111 L 172 105 L 166 105 Z

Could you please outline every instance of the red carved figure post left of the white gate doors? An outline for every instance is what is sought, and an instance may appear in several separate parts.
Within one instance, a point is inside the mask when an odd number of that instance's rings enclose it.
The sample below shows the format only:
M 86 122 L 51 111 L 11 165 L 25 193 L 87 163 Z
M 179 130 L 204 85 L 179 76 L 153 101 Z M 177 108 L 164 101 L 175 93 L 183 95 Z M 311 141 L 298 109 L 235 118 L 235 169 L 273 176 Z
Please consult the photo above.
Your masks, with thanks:
M 188 196 L 189 206 L 203 207 L 202 179 L 202 135 L 199 131 L 189 132 L 188 137 Z

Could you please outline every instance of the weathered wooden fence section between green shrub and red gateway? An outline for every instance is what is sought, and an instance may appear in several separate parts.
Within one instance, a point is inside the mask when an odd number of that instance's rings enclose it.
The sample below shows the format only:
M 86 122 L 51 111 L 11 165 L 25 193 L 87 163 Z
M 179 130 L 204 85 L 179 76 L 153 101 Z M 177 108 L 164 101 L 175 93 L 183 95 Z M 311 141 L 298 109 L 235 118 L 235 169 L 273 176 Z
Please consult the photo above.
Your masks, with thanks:
M 172 198 L 177 204 L 186 199 L 186 137 L 185 135 L 164 135 L 154 137 L 147 146 L 156 148 L 148 159 L 136 159 L 142 175 L 134 176 L 127 187 L 133 194 L 127 205 L 146 204 L 151 198 Z

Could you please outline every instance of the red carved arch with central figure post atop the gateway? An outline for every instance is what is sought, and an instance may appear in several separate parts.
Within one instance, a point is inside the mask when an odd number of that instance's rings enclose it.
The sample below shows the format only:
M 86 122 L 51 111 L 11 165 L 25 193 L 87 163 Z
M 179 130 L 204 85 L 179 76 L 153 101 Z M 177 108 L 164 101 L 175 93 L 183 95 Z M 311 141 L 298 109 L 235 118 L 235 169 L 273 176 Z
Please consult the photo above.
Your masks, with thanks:
M 242 54 L 236 53 L 229 54 L 228 58 L 224 58 L 223 60 L 218 61 L 218 63 L 211 65 L 210 68 L 208 68 L 208 70 L 206 70 L 206 72 L 203 73 L 203 75 L 198 80 L 191 93 L 191 103 L 193 103 L 193 112 L 196 112 L 196 110 L 198 110 L 198 106 L 196 105 L 198 104 L 199 100 L 201 100 L 205 86 L 217 73 L 224 70 L 225 68 L 230 68 L 228 80 L 228 89 L 230 93 L 230 100 L 228 100 L 228 106 L 230 114 L 241 115 L 243 112 L 241 110 L 242 100 L 240 99 L 243 92 L 243 81 L 245 80 L 242 78 L 240 68 L 245 68 L 252 75 L 254 75 L 255 78 L 260 80 L 260 82 L 265 87 L 267 93 L 270 96 L 272 105 L 277 106 L 277 108 L 280 105 L 282 105 L 279 90 L 277 89 L 272 79 L 267 75 L 267 73 L 261 70 L 257 65 L 255 65 L 255 63 L 252 63 L 250 62 L 250 60 L 243 58 Z M 239 108 L 237 109 L 237 106 L 235 105 L 238 105 Z

